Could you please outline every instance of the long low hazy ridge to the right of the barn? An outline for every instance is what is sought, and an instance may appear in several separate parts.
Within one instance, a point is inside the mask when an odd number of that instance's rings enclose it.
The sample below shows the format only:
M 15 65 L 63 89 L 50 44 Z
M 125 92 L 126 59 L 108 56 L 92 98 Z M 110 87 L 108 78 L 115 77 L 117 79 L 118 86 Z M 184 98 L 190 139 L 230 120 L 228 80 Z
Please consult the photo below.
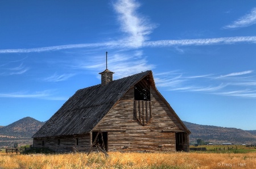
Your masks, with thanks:
M 212 125 L 199 125 L 183 121 L 191 131 L 189 142 L 196 142 L 198 138 L 210 143 L 256 143 L 256 130 L 242 130 L 236 128 L 224 128 Z

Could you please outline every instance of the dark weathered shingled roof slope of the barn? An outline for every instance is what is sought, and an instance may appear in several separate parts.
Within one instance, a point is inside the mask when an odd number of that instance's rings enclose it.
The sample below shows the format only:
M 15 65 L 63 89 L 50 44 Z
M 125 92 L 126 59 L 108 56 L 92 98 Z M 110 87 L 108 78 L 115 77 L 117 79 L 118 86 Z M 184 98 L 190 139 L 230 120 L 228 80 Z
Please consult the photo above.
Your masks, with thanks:
M 33 138 L 89 133 L 129 88 L 147 75 L 152 77 L 152 71 L 78 90 Z M 153 77 L 152 81 L 154 83 Z M 155 84 L 152 86 L 155 87 Z

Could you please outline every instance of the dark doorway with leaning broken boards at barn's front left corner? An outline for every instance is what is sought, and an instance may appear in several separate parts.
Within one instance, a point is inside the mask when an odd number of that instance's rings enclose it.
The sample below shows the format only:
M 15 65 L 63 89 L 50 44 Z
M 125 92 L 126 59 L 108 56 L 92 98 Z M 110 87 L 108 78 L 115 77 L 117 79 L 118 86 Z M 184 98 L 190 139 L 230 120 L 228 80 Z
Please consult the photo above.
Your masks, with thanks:
M 108 132 L 92 132 L 92 142 L 94 141 L 96 142 L 93 147 L 98 145 L 102 150 L 108 151 Z

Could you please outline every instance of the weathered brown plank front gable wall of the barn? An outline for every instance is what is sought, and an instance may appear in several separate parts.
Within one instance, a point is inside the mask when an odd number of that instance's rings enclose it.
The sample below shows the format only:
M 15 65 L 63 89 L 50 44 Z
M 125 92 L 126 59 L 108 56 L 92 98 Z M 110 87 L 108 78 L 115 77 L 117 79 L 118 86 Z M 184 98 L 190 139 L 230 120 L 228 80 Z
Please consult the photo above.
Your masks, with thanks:
M 94 130 L 108 132 L 109 151 L 176 151 L 175 132 L 185 132 L 156 91 L 151 91 L 152 119 L 142 125 L 134 113 L 134 88 Z

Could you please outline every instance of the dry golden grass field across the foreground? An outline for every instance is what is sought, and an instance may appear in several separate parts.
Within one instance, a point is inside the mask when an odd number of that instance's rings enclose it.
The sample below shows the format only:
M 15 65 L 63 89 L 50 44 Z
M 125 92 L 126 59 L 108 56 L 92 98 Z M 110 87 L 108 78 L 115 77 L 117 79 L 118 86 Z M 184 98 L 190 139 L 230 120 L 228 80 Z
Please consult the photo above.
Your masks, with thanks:
M 256 168 L 256 153 L 0 153 L 0 168 Z

